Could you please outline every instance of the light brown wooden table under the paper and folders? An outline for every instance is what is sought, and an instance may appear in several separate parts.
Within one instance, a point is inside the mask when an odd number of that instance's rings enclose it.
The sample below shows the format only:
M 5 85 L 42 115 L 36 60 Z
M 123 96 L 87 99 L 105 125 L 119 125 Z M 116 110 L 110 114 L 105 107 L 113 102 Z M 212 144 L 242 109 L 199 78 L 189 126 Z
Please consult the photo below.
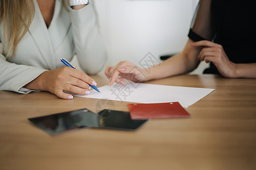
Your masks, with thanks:
M 93 78 L 98 87 L 108 82 Z M 191 118 L 150 120 L 138 131 L 81 129 L 54 137 L 27 118 L 95 111 L 99 100 L 1 91 L 0 169 L 256 169 L 256 79 L 181 75 L 149 83 L 216 90 L 186 109 Z M 128 111 L 125 102 L 114 107 Z

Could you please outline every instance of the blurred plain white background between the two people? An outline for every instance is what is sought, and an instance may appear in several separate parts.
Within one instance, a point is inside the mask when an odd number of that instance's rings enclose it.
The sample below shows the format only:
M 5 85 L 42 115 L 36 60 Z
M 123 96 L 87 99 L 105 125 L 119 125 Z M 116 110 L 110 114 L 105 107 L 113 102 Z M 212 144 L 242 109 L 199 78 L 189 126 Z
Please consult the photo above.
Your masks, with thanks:
M 181 52 L 198 0 L 94 0 L 108 53 L 106 65 L 128 60 L 139 65 L 148 53 L 155 58 Z M 159 59 L 160 61 L 160 59 Z M 191 74 L 201 74 L 201 62 Z M 101 74 L 104 73 L 101 70 Z

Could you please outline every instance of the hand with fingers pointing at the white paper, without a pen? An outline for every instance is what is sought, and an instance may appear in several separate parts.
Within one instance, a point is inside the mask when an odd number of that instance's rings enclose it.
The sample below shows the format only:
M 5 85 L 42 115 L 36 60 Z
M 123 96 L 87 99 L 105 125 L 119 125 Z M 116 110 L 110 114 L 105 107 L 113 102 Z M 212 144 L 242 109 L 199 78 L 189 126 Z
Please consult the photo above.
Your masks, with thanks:
M 125 84 L 125 79 L 133 82 L 144 82 L 148 80 L 149 72 L 142 69 L 129 61 L 121 61 L 115 66 L 107 66 L 105 75 L 110 79 L 108 86 L 114 82 Z

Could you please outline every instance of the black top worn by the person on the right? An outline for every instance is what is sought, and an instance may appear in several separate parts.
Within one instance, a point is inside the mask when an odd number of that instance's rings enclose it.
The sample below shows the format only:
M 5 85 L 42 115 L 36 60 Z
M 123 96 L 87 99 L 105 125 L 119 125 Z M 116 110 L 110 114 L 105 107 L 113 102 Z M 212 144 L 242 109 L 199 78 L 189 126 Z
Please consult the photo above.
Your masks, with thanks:
M 256 63 L 256 1 L 212 0 L 207 4 L 209 2 L 199 2 L 189 38 L 199 41 L 201 37 L 221 44 L 234 63 Z M 208 10 L 209 13 L 203 16 Z M 213 63 L 205 71 L 218 73 Z

